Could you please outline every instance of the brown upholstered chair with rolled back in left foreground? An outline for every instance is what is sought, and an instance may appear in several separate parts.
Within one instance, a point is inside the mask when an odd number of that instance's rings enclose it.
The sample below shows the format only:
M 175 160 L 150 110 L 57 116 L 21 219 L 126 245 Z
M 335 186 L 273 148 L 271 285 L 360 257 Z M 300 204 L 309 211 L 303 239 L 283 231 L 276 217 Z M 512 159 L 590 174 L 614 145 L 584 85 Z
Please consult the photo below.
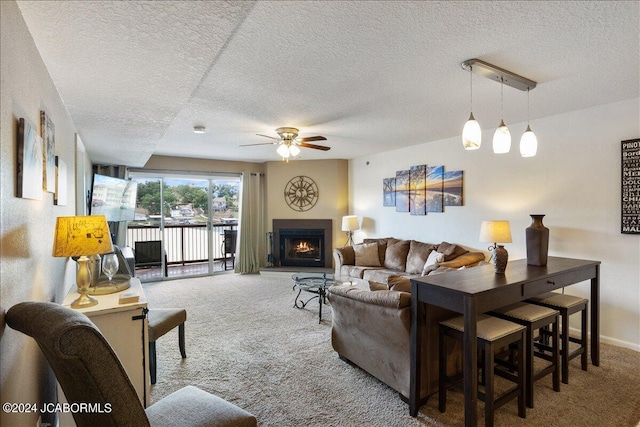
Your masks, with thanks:
M 110 404 L 110 412 L 74 413 L 78 427 L 257 426 L 250 413 L 194 386 L 143 408 L 107 340 L 88 317 L 68 307 L 23 302 L 11 307 L 5 319 L 36 340 L 69 403 Z

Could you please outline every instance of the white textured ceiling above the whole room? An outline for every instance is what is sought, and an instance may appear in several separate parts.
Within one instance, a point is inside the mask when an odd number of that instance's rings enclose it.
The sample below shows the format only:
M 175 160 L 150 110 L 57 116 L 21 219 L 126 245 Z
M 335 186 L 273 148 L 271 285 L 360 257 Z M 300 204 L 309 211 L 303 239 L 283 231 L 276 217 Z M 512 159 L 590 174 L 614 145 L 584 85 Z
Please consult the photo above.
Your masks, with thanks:
M 538 82 L 531 119 L 640 95 L 640 2 L 18 1 L 94 162 L 277 160 L 293 126 L 354 158 L 460 135 L 479 58 Z M 500 85 L 474 75 L 474 114 Z M 527 96 L 504 89 L 524 131 Z M 194 126 L 206 126 L 194 134 Z M 542 142 L 541 142 L 542 143 Z

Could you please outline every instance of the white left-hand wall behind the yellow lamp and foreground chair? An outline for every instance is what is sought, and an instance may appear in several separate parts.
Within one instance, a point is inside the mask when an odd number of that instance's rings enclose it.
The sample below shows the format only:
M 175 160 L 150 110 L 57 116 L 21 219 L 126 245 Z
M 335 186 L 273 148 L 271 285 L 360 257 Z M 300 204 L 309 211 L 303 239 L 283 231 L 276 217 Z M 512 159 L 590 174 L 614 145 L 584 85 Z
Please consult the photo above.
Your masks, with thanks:
M 0 2 L 0 302 L 60 300 L 75 282 L 75 263 L 51 256 L 56 217 L 75 214 L 75 128 L 13 1 Z M 40 110 L 55 124 L 55 153 L 67 164 L 67 206 L 15 197 L 17 122 L 39 129 Z M 0 401 L 50 402 L 54 377 L 35 341 L 0 324 Z M 49 414 L 50 415 L 50 414 Z M 0 412 L 0 425 L 33 426 L 38 414 Z M 45 416 L 52 421 L 52 417 Z

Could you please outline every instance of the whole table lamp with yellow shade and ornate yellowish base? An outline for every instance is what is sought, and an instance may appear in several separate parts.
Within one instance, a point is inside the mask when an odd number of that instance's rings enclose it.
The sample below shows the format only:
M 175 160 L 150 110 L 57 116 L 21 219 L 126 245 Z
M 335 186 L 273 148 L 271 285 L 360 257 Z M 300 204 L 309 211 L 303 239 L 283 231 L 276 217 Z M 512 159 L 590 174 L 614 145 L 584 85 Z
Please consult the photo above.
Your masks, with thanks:
M 98 300 L 87 295 L 91 285 L 89 256 L 113 252 L 107 218 L 96 216 L 61 216 L 56 221 L 53 241 L 53 256 L 78 257 L 76 284 L 78 299 L 71 303 L 72 308 L 85 308 L 98 304 Z

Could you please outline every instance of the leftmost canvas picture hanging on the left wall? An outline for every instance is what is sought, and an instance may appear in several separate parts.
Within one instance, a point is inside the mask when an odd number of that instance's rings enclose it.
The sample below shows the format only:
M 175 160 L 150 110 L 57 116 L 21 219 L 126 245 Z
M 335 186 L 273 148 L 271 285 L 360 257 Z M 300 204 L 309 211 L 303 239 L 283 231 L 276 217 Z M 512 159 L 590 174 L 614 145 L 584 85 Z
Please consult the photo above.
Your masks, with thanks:
M 18 174 L 16 195 L 42 199 L 42 138 L 25 119 L 18 122 Z

